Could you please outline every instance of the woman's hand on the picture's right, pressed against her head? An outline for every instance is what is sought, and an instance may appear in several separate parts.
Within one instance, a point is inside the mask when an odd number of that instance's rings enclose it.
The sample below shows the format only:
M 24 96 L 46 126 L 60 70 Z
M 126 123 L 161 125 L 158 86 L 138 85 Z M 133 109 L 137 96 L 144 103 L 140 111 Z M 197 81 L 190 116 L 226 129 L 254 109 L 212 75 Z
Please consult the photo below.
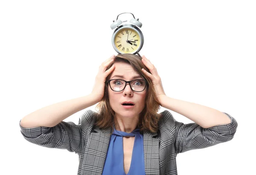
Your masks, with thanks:
M 142 62 L 143 64 L 148 68 L 150 73 L 148 73 L 145 69 L 142 69 L 142 71 L 151 79 L 151 81 L 154 84 L 154 89 L 156 91 L 157 99 L 160 102 L 160 97 L 166 96 L 163 85 L 160 76 L 157 73 L 157 68 L 154 67 L 154 65 L 147 59 L 144 55 L 142 56 Z

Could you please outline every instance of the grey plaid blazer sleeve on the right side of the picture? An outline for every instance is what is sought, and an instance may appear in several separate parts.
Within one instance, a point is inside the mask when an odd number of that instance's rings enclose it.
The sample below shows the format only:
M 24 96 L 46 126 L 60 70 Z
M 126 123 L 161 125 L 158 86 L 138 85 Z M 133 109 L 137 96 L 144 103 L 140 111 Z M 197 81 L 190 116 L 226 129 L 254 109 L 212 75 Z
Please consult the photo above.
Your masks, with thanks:
M 224 114 L 230 118 L 229 124 L 219 124 L 209 128 L 203 128 L 196 123 L 183 124 L 175 121 L 177 153 L 211 147 L 232 140 L 238 124 L 232 116 Z

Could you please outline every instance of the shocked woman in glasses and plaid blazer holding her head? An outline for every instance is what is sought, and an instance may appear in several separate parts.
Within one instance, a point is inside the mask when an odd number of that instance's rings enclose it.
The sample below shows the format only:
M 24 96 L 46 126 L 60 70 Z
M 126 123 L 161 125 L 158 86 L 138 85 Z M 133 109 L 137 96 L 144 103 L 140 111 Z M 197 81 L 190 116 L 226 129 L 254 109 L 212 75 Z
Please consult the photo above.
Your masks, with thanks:
M 98 113 L 85 111 L 79 124 L 63 121 L 97 102 Z M 157 113 L 160 106 L 195 123 Z M 227 113 L 166 96 L 154 65 L 133 54 L 103 62 L 90 95 L 20 120 L 27 141 L 77 153 L 78 175 L 177 175 L 178 153 L 230 141 L 237 126 Z

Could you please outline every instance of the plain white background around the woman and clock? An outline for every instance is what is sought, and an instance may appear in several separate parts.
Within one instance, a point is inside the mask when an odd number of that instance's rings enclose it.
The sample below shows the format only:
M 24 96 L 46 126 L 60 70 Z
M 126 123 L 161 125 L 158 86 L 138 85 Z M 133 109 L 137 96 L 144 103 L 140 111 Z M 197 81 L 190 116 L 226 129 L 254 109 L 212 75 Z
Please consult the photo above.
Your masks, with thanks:
M 91 92 L 99 65 L 117 54 L 110 25 L 123 12 L 143 23 L 139 53 L 157 68 L 167 96 L 215 108 L 238 121 L 233 140 L 178 154 L 178 174 L 253 174 L 255 9 L 253 0 L 2 0 L 0 174 L 77 173 L 78 155 L 29 143 L 19 121 L 39 108 Z M 64 121 L 77 124 L 85 110 Z M 192 122 L 171 113 L 177 121 Z

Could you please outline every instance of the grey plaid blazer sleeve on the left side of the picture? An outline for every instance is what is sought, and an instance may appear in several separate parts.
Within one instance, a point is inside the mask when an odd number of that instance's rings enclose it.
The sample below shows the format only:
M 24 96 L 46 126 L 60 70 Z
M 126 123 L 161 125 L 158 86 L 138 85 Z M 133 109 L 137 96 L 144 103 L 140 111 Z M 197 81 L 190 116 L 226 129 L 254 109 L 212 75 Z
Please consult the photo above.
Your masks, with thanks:
M 61 121 L 54 127 L 24 128 L 20 125 L 20 132 L 27 141 L 33 144 L 77 153 L 86 144 L 86 133 L 84 134 L 84 132 L 90 125 L 92 113 L 92 110 L 85 111 L 79 118 L 79 124 Z

